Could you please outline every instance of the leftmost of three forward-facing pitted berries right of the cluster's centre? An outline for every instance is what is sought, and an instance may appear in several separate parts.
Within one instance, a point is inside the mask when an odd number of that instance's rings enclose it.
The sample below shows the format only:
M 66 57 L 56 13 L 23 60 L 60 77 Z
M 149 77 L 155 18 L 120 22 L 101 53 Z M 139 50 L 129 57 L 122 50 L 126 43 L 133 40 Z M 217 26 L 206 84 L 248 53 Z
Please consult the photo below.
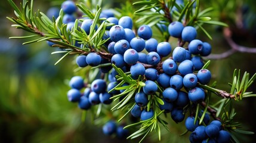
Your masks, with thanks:
M 172 59 L 166 59 L 162 65 L 162 69 L 164 70 L 164 73 L 172 75 L 175 74 L 178 66 Z

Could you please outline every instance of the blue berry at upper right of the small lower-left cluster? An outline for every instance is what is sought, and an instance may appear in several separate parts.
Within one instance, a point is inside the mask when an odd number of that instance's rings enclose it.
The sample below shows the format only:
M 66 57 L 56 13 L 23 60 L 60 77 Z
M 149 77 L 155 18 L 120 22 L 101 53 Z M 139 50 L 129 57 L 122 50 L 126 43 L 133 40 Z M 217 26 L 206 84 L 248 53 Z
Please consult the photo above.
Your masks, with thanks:
M 91 83 L 91 91 L 94 91 L 97 94 L 103 93 L 106 90 L 106 87 L 106 82 L 103 79 L 95 79 Z

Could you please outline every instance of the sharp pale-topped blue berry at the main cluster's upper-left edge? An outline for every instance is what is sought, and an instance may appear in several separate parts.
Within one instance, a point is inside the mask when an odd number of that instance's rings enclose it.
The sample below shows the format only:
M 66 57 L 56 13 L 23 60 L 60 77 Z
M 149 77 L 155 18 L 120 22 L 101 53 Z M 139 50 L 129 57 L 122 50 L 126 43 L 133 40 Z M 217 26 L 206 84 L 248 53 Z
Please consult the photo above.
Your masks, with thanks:
M 109 37 L 113 42 L 125 39 L 124 27 L 119 25 L 112 26 L 109 30 Z

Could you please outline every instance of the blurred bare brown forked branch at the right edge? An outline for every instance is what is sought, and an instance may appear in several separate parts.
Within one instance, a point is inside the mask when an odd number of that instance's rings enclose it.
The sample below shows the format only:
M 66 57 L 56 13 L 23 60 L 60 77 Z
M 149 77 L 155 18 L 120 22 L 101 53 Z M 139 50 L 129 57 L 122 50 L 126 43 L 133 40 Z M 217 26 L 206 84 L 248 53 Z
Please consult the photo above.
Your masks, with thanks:
M 227 43 L 231 47 L 231 49 L 229 49 L 228 51 L 223 52 L 221 54 L 208 55 L 207 57 L 205 57 L 206 59 L 212 59 L 212 60 L 223 59 L 223 58 L 229 57 L 230 55 L 235 54 L 236 52 L 256 54 L 256 48 L 241 46 L 241 45 L 238 45 L 237 43 L 235 43 L 235 41 L 233 41 L 233 39 L 232 39 L 232 32 L 229 28 L 224 29 L 223 35 L 224 35 L 224 38 L 226 39 Z

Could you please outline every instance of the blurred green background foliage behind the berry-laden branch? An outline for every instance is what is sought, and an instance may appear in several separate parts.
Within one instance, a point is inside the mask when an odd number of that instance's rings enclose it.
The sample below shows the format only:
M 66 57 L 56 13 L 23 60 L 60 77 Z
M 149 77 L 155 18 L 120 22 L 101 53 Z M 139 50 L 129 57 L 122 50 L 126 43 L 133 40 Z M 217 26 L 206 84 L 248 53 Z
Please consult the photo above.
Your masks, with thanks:
M 20 1 L 15 0 L 16 4 Z M 34 10 L 46 13 L 49 7 L 61 1 L 35 1 Z M 108 1 L 109 5 L 120 7 L 125 1 Z M 202 1 L 202 7 L 213 6 L 212 17 L 230 25 L 233 40 L 240 45 L 256 47 L 256 5 L 254 1 Z M 240 14 L 238 16 L 238 14 Z M 26 35 L 23 30 L 11 27 L 6 17 L 14 17 L 13 9 L 7 1 L 0 4 L 0 142 L 126 142 L 104 136 L 101 128 L 91 124 L 90 117 L 81 121 L 82 110 L 67 101 L 69 90 L 67 80 L 75 69 L 70 56 L 54 66 L 58 55 L 46 42 L 22 45 L 26 42 L 8 39 L 10 36 Z M 242 23 L 242 26 L 241 26 Z M 199 39 L 212 44 L 212 53 L 230 49 L 223 38 L 221 27 L 208 26 L 213 40 L 199 31 Z M 242 73 L 256 72 L 256 54 L 236 53 L 226 59 L 212 60 L 209 69 L 212 80 L 217 80 L 217 88 L 229 91 L 234 69 Z M 256 93 L 254 83 L 248 91 Z M 243 129 L 256 132 L 256 99 L 246 98 L 235 104 L 238 111 L 236 120 Z M 179 124 L 180 125 L 180 124 Z M 175 128 L 171 130 L 174 136 Z M 175 134 L 176 133 L 176 134 Z M 170 134 L 164 132 L 162 138 L 168 141 Z M 177 137 L 182 138 L 182 137 Z M 255 135 L 241 137 L 243 142 L 255 141 Z M 177 141 L 177 140 L 176 140 Z M 188 142 L 188 139 L 180 140 Z M 135 141 L 132 141 L 135 142 Z

